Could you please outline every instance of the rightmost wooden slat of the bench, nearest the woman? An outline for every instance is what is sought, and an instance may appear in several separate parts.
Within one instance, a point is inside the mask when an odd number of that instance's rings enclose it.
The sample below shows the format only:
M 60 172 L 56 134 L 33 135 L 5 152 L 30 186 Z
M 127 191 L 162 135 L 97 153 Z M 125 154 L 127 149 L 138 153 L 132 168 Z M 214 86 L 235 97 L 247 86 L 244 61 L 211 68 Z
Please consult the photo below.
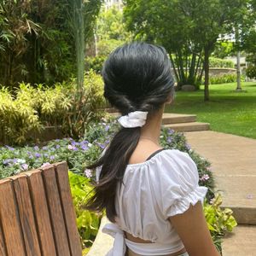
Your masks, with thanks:
M 64 212 L 67 236 L 72 256 L 81 256 L 82 247 L 79 238 L 79 231 L 76 224 L 76 214 L 73 207 L 73 199 L 68 182 L 67 163 L 61 162 L 55 165 L 55 172 L 59 193 L 61 197 L 62 211 Z

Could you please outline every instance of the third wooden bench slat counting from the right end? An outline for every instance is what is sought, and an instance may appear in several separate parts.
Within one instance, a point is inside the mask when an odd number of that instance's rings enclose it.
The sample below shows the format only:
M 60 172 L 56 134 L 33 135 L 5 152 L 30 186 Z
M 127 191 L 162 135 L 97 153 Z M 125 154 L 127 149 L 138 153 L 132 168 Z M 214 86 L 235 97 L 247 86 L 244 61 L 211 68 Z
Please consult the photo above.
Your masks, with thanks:
M 50 224 L 49 210 L 44 191 L 41 171 L 26 172 L 28 187 L 32 197 L 32 207 L 38 229 L 38 239 L 42 255 L 56 256 L 55 240 Z

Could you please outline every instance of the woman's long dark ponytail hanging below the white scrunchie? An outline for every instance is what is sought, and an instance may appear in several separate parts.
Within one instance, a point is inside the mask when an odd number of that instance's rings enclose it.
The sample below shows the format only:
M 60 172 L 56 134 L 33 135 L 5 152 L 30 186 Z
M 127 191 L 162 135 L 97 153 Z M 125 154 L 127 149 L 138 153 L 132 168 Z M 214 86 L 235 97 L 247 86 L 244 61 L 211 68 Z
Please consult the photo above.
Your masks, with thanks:
M 137 147 L 140 138 L 141 128 L 121 128 L 113 137 L 105 154 L 96 162 L 89 166 L 95 169 L 102 166 L 100 183 L 95 183 L 94 195 L 86 204 L 89 210 L 101 212 L 106 209 L 108 219 L 114 222 L 116 211 L 114 200 L 117 184 L 122 181 L 131 154 Z M 114 154 L 113 154 L 114 152 Z

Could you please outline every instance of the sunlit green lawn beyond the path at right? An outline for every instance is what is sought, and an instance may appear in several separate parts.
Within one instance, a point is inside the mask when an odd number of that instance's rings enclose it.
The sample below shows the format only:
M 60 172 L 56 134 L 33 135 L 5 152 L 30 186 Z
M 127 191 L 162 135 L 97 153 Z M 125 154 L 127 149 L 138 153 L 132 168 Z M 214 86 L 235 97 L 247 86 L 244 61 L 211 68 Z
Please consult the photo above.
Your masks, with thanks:
M 212 131 L 222 131 L 256 139 L 256 83 L 242 83 L 247 92 L 234 92 L 236 83 L 210 85 L 210 102 L 204 102 L 202 90 L 178 91 L 167 113 L 195 113 Z

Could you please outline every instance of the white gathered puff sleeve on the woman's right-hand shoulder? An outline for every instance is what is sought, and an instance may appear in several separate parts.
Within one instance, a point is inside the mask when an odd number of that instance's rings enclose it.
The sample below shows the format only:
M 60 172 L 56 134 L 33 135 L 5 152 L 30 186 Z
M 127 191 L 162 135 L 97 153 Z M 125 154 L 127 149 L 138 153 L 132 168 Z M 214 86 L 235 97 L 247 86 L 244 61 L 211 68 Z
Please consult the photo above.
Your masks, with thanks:
M 186 212 L 190 205 L 202 202 L 207 194 L 207 188 L 198 184 L 195 162 L 189 154 L 179 150 L 162 155 L 158 179 L 160 209 L 164 218 Z

